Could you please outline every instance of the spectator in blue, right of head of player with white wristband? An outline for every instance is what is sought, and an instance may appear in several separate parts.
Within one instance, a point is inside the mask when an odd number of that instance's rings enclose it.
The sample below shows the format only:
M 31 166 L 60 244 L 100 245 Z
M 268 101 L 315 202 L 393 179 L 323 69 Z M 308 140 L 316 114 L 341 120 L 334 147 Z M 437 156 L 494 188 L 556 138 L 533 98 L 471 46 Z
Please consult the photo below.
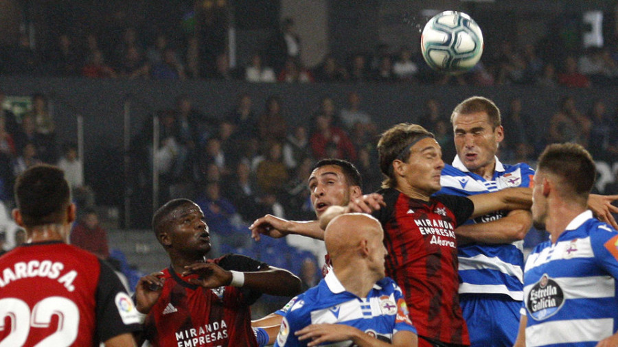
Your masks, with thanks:
M 241 217 L 233 204 L 222 197 L 219 182 L 207 182 L 195 203 L 208 221 L 210 237 L 216 241 L 211 243 L 217 248 L 216 254 L 220 254 L 218 247 L 224 243 L 230 247 L 247 248 L 251 245 L 251 238 L 244 231 L 247 227 L 240 226 Z

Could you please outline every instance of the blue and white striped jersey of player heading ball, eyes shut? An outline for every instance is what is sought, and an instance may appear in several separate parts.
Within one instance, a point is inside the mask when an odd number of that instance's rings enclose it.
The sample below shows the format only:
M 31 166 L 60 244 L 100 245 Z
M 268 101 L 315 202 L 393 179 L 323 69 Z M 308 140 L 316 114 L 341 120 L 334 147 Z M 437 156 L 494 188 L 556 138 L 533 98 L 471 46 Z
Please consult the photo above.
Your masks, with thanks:
M 503 165 L 496 158 L 492 180 L 466 169 L 459 156 L 453 166 L 442 169 L 442 189 L 435 195 L 476 195 L 490 193 L 509 187 L 529 187 L 534 170 L 525 163 Z M 466 224 L 491 222 L 501 219 L 508 211 L 497 211 L 477 217 Z M 459 246 L 459 294 L 505 294 L 513 300 L 522 300 L 523 286 L 523 241 L 501 245 L 470 243 Z

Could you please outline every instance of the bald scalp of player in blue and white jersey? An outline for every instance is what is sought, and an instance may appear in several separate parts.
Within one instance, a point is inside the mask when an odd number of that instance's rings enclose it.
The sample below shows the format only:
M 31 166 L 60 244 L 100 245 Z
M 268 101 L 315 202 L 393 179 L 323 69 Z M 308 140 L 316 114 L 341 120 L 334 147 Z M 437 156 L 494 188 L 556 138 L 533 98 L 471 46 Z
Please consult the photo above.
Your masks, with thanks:
M 382 225 L 365 213 L 345 213 L 332 219 L 324 232 L 326 251 L 331 258 L 352 252 L 363 239 L 382 239 Z

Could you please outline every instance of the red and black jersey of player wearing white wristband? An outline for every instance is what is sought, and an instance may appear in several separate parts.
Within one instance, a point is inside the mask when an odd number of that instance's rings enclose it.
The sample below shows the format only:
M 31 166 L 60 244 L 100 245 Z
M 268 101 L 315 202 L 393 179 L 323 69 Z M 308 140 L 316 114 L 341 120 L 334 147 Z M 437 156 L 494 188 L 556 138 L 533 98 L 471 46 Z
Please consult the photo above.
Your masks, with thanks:
M 227 254 L 209 260 L 225 270 L 254 272 L 268 265 L 247 256 Z M 144 337 L 153 346 L 258 346 L 251 328 L 250 305 L 261 293 L 247 288 L 206 289 L 168 267 L 155 306 L 144 322 Z

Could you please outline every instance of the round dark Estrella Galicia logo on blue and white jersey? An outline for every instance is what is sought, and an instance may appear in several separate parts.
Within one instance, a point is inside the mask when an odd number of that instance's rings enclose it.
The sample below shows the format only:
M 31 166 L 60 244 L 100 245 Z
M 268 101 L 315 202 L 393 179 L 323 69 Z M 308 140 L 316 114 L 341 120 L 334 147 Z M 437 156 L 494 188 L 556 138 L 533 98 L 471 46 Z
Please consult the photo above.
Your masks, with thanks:
M 534 320 L 545 320 L 560 311 L 564 292 L 560 285 L 543 274 L 528 294 L 526 308 Z

